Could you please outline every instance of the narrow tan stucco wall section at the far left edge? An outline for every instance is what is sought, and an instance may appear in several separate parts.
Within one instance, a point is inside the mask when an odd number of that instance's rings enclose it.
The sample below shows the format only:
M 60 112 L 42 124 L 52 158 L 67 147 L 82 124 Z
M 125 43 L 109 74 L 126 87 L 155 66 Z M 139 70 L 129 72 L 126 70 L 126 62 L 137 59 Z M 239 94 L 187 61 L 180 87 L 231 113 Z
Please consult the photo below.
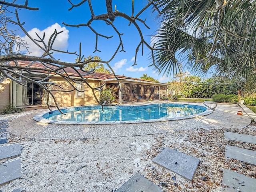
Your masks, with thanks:
M 10 79 L 0 83 L 0 111 L 2 111 L 10 102 Z

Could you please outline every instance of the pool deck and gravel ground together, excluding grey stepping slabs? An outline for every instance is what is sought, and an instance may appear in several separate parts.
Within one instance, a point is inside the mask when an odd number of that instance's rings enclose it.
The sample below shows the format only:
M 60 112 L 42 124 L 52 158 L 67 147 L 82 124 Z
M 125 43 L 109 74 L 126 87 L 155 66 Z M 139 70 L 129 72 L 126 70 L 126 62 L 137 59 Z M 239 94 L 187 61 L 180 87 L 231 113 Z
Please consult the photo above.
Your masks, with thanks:
M 34 122 L 42 110 L 0 116 L 9 119 L 2 146 L 20 143 L 21 156 L 14 160 L 22 164 L 22 177 L 0 190 L 113 192 L 140 173 L 156 185 L 166 183 L 160 187 L 168 192 L 221 191 L 223 169 L 256 177 L 256 166 L 224 156 L 227 144 L 256 150 L 224 138 L 225 131 L 256 135 L 256 125 L 238 110 L 236 104 L 218 104 L 211 114 L 186 120 L 83 126 Z M 200 159 L 192 181 L 152 162 L 167 147 Z

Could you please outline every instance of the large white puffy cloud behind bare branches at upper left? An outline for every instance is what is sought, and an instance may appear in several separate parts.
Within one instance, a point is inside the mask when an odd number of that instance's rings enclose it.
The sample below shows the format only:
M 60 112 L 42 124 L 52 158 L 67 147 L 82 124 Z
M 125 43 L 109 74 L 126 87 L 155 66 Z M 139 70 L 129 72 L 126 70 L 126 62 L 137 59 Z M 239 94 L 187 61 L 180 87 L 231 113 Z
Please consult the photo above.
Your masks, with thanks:
M 56 50 L 67 50 L 68 47 L 68 30 L 65 27 L 60 26 L 58 23 L 53 24 L 52 26 L 49 26 L 48 28 L 44 29 L 44 30 L 40 30 L 38 28 L 33 28 L 30 31 L 28 31 L 28 34 L 36 40 L 38 39 L 38 36 L 36 36 L 36 33 L 42 38 L 43 34 L 45 33 L 45 38 L 44 38 L 44 42 L 46 44 L 48 44 L 48 40 L 50 38 L 50 36 L 52 35 L 52 33 L 54 32 L 54 30 L 57 30 L 57 32 L 63 31 L 62 33 L 58 34 L 54 44 L 52 46 L 53 49 Z M 42 56 L 42 54 L 44 53 L 44 51 L 39 48 L 36 44 L 34 44 L 30 38 L 28 38 L 28 36 L 24 36 L 21 37 L 21 39 L 24 42 L 27 42 L 27 44 L 29 45 L 28 50 L 31 52 L 30 54 L 27 53 L 26 55 L 32 55 L 32 56 Z M 40 46 L 44 47 L 42 43 L 38 42 L 38 44 L 40 44 Z M 18 51 L 18 50 L 16 50 Z M 26 52 L 27 50 L 25 48 L 20 48 L 20 51 L 24 51 Z

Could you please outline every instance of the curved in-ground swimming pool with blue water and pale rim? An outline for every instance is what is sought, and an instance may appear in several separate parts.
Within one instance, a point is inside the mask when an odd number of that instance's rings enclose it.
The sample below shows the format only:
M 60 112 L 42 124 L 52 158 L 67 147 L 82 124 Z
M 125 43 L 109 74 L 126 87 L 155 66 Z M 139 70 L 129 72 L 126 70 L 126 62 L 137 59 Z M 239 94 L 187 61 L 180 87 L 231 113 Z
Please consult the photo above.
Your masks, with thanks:
M 140 122 L 158 122 L 194 118 L 210 114 L 210 111 L 199 105 L 191 104 L 147 104 L 140 106 L 79 106 L 38 114 L 34 120 L 52 124 L 123 124 Z

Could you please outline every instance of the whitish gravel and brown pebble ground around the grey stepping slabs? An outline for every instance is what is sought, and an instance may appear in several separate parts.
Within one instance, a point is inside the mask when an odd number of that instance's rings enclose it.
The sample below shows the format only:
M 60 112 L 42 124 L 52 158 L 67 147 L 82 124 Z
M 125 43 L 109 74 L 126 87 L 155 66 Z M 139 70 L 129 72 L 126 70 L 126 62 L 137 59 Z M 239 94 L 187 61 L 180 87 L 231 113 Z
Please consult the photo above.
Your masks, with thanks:
M 9 122 L 31 112 L 0 116 Z M 25 117 L 25 116 L 24 116 Z M 256 166 L 224 156 L 225 145 L 256 150 L 256 145 L 224 139 L 225 131 L 256 135 L 256 124 L 245 128 L 199 127 L 152 135 L 109 138 L 41 139 L 8 133 L 20 143 L 22 178 L 0 186 L 0 192 L 21 187 L 27 192 L 114 192 L 136 172 L 168 192 L 219 192 L 223 168 L 256 178 Z M 200 159 L 191 181 L 152 162 L 162 148 L 177 149 Z M 165 185 L 165 184 L 164 184 Z

